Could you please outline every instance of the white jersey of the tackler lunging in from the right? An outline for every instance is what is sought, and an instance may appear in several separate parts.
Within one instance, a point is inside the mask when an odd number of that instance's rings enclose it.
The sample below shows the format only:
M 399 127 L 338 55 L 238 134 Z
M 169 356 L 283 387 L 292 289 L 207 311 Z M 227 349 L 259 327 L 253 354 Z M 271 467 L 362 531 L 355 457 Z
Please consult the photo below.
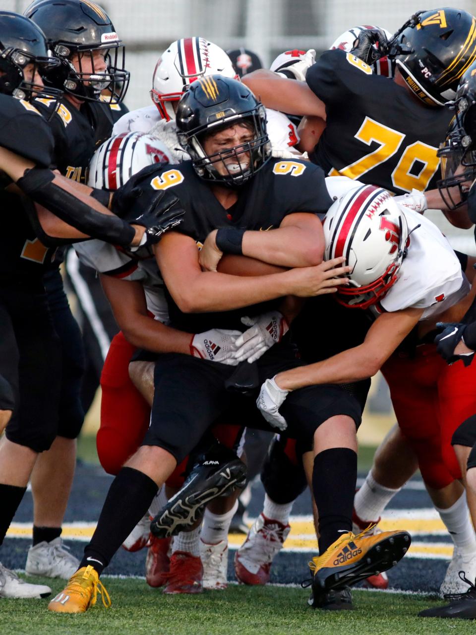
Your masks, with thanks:
M 363 184 L 348 177 L 327 177 L 326 187 L 334 200 Z M 407 256 L 399 270 L 399 277 L 380 300 L 385 311 L 425 309 L 420 320 L 433 318 L 459 302 L 470 290 L 461 264 L 447 239 L 431 220 L 408 208 L 405 214 L 408 230 L 412 232 Z M 378 314 L 376 307 L 371 310 Z

